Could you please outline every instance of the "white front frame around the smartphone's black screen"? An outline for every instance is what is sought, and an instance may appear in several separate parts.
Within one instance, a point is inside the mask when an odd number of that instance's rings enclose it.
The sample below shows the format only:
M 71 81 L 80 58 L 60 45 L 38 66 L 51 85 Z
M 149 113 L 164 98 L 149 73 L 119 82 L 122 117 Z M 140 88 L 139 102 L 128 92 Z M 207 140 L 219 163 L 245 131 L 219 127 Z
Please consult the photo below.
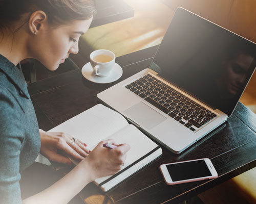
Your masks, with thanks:
M 169 174 L 169 171 L 166 167 L 167 165 L 174 165 L 174 164 L 178 164 L 178 163 L 186 163 L 186 162 L 193 162 L 193 161 L 199 161 L 199 160 L 204 160 L 204 162 L 205 162 L 207 168 L 209 169 L 211 175 L 203 176 L 203 177 L 197 177 L 197 178 L 188 179 L 188 180 L 179 180 L 179 181 L 174 182 L 172 180 L 172 175 Z M 161 172 L 164 176 L 165 183 L 168 184 L 168 185 L 187 183 L 187 182 L 193 182 L 193 181 L 200 181 L 200 180 L 206 180 L 206 179 L 214 179 L 214 178 L 218 177 L 218 173 L 217 173 L 216 169 L 214 168 L 214 165 L 212 165 L 211 161 L 208 158 L 162 164 L 160 166 L 160 170 L 161 170 Z

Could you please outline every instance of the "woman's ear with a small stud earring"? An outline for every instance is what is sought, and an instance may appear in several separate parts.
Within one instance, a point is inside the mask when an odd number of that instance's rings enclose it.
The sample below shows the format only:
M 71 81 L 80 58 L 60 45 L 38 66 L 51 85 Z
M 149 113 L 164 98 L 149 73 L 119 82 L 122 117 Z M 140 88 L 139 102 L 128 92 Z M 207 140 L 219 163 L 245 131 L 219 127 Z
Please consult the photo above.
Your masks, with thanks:
M 35 11 L 29 18 L 29 30 L 36 35 L 47 24 L 47 15 L 44 11 Z

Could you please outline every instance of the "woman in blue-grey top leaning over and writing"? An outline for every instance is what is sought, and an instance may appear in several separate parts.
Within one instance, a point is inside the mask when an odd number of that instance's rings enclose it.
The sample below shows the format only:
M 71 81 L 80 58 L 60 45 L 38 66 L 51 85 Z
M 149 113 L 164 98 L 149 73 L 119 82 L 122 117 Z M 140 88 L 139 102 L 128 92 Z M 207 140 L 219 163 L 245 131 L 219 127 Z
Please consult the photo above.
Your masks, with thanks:
M 34 58 L 49 70 L 57 69 L 69 54 L 78 53 L 78 39 L 94 13 L 93 0 L 0 1 L 0 203 L 67 203 L 88 183 L 116 173 L 124 163 L 127 144 L 108 150 L 102 141 L 89 152 L 86 144 L 73 142 L 67 134 L 38 131 L 18 66 Z M 58 154 L 62 150 L 81 162 L 54 185 L 22 201 L 20 173 L 39 150 L 52 161 L 71 165 Z

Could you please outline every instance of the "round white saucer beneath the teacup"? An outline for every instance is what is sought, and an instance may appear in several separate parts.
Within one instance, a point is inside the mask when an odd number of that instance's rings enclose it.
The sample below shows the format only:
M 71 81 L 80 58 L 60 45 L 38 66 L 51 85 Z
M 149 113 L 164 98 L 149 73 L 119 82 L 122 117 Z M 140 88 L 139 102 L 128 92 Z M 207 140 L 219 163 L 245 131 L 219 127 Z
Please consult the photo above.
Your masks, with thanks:
M 91 82 L 99 83 L 99 84 L 106 84 L 111 83 L 118 80 L 121 75 L 123 74 L 122 67 L 115 63 L 114 67 L 112 68 L 110 75 L 108 77 L 98 77 L 93 73 L 93 68 L 91 63 L 88 62 L 82 67 L 82 75 L 84 78 Z

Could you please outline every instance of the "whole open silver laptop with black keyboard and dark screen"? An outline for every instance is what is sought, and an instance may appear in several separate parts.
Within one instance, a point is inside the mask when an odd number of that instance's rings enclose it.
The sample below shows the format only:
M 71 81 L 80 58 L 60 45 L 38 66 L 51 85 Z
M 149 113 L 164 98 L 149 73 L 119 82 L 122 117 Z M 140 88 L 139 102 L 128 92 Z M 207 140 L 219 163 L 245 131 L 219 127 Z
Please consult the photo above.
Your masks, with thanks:
M 150 68 L 97 97 L 179 154 L 232 114 L 255 54 L 253 42 L 178 8 Z

